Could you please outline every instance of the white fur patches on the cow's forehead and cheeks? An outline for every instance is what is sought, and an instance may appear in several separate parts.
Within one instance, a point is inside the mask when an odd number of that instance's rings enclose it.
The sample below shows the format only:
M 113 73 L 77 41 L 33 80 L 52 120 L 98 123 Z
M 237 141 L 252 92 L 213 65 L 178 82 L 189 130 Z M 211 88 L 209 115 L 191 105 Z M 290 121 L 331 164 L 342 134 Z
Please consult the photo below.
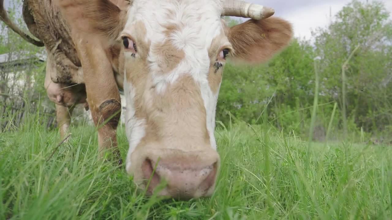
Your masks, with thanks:
M 145 39 L 142 40 L 150 45 L 147 65 L 155 92 L 165 92 L 167 85 L 175 83 L 184 75 L 191 75 L 197 85 L 200 86 L 201 96 L 207 112 L 207 130 L 210 136 L 211 147 L 216 149 L 214 137 L 215 110 L 218 92 L 213 93 L 208 81 L 211 65 L 209 49 L 212 40 L 223 34 L 221 23 L 222 6 L 220 0 L 134 0 L 128 11 L 128 20 L 124 32 L 129 35 L 137 32 L 136 22 L 143 22 L 145 26 Z M 176 29 L 167 32 L 167 27 L 175 25 Z M 154 54 L 155 47 L 169 40 L 171 44 L 184 53 L 184 58 L 169 72 L 159 65 L 159 56 Z M 127 53 L 127 52 L 125 52 Z M 137 55 L 136 55 L 137 56 Z M 125 62 L 132 59 L 125 56 Z M 213 58 L 215 59 L 215 58 Z M 214 60 L 215 61 L 215 60 Z M 124 74 L 126 76 L 126 74 Z M 144 136 L 144 121 L 135 117 L 133 105 L 134 91 L 131 82 L 124 77 L 124 90 L 126 97 L 126 132 L 129 142 L 127 167 L 132 151 Z M 219 91 L 219 89 L 218 89 Z

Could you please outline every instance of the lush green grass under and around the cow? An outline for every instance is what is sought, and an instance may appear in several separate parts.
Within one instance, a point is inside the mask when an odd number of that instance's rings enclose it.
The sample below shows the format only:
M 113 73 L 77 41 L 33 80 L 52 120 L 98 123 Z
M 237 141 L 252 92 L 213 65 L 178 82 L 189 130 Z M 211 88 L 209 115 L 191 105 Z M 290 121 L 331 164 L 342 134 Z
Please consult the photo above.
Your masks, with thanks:
M 34 121 L 34 120 L 32 120 Z M 211 198 L 145 197 L 97 159 L 94 128 L 61 141 L 38 120 L 0 134 L 0 219 L 392 219 L 392 149 L 308 144 L 274 130 L 218 125 Z M 122 127 L 118 141 L 125 159 Z

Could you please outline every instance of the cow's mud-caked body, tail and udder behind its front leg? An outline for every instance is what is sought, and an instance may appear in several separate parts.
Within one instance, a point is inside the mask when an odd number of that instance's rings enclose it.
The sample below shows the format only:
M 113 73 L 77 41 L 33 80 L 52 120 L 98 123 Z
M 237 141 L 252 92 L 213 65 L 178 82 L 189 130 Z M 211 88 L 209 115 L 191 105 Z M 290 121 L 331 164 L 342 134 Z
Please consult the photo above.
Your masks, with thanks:
M 111 0 L 125 9 L 127 0 Z M 0 20 L 26 41 L 38 47 L 45 47 L 48 54 L 44 87 L 49 100 L 55 103 L 56 119 L 60 137 L 69 131 L 71 116 L 76 105 L 83 104 L 88 110 L 87 94 L 83 80 L 83 70 L 65 23 L 56 5 L 50 0 L 25 0 L 22 15 L 29 31 L 40 40 L 34 40 L 20 30 L 7 16 L 4 0 L 0 0 Z M 117 57 L 116 47 L 111 47 Z M 117 66 L 117 65 L 116 65 Z M 116 72 L 117 83 L 122 83 L 122 73 Z M 120 86 L 121 87 L 121 86 Z

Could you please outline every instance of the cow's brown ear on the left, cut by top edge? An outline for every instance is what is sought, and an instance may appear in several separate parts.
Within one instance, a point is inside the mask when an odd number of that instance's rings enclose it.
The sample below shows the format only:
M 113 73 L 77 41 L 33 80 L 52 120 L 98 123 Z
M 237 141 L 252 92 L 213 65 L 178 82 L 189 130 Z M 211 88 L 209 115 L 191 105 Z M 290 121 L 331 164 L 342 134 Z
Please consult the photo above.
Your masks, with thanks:
M 113 0 L 112 0 L 113 1 Z M 126 7 L 111 0 L 54 0 L 72 34 L 99 34 L 115 40 L 125 25 Z M 124 5 L 121 5 L 124 6 Z

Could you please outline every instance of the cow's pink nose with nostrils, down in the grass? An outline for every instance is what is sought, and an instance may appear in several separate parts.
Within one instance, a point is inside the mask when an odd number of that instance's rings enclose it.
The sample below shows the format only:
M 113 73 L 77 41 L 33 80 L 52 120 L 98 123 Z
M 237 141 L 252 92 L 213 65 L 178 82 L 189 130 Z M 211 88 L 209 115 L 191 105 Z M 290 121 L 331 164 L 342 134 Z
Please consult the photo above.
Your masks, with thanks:
M 147 191 L 152 193 L 165 180 L 166 187 L 159 195 L 183 200 L 210 196 L 214 191 L 219 157 L 211 159 L 201 160 L 192 155 L 168 157 L 160 159 L 156 166 L 155 160 L 147 158 L 142 164 L 144 179 L 148 181 L 151 178 Z

